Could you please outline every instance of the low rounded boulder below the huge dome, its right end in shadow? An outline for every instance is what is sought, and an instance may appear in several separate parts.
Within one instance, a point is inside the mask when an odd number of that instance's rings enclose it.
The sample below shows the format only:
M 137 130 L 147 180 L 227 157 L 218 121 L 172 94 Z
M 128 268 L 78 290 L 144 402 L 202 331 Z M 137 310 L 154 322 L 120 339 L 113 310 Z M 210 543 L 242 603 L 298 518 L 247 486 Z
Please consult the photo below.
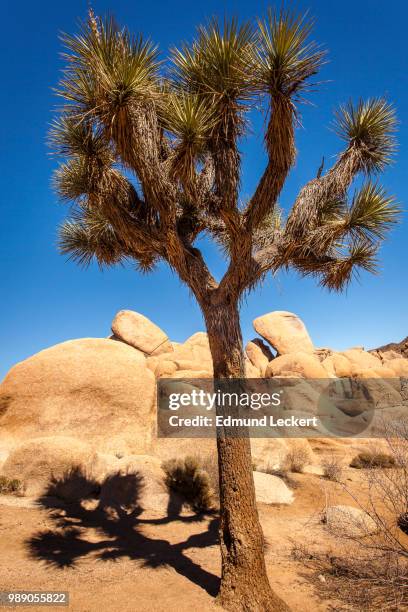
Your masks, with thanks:
M 27 495 L 45 493 L 55 481 L 64 480 L 75 474 L 74 486 L 65 491 L 65 497 L 90 493 L 93 470 L 97 461 L 96 453 L 85 442 L 67 436 L 34 438 L 17 446 L 6 459 L 2 475 L 18 478 L 25 486 Z

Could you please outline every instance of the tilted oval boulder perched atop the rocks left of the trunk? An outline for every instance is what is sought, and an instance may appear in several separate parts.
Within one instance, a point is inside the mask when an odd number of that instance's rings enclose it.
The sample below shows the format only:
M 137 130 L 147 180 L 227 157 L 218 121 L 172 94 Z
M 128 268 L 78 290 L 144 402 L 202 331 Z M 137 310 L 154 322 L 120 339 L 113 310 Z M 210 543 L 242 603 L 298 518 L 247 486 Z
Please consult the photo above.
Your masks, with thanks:
M 173 345 L 160 327 L 133 310 L 120 310 L 112 321 L 113 334 L 146 355 L 173 352 Z

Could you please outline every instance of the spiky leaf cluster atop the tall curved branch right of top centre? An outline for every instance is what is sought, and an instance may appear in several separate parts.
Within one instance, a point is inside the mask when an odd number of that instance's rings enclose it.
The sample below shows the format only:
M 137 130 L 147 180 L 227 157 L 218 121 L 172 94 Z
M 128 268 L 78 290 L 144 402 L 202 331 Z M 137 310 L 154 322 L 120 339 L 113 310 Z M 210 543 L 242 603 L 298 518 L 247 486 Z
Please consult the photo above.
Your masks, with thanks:
M 307 89 L 308 79 L 317 73 L 325 55 L 308 40 L 313 21 L 270 9 L 268 18 L 258 24 L 254 67 L 261 91 L 291 97 Z

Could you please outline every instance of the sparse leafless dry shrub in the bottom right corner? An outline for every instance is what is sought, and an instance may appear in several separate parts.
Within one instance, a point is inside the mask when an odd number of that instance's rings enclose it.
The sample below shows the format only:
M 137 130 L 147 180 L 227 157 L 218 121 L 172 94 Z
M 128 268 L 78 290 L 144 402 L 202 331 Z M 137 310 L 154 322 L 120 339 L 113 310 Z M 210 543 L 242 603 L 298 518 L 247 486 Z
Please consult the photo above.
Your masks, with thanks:
M 345 602 L 350 606 L 345 609 L 408 609 L 408 420 L 387 423 L 384 440 L 387 452 L 368 453 L 370 463 L 364 467 L 372 468 L 377 455 L 387 461 L 380 459 L 375 467 L 385 464 L 387 469 L 364 469 L 358 493 L 341 484 L 370 518 L 367 529 L 359 522 L 355 534 L 331 533 L 335 546 L 329 550 L 296 546 L 293 551 L 297 560 L 316 570 L 316 583 L 318 575 L 324 576 L 319 592 L 326 590 L 328 597 Z

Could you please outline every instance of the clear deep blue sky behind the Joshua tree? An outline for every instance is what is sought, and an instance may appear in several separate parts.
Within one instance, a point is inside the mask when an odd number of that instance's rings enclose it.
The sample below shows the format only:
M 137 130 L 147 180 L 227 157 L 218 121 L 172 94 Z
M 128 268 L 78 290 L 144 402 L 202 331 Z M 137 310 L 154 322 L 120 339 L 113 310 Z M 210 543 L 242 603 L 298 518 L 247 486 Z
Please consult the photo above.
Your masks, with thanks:
M 195 26 L 214 14 L 241 19 L 262 15 L 270 3 L 261 1 L 151 2 L 94 0 L 97 13 L 113 12 L 120 23 L 142 31 L 163 53 L 191 38 Z M 60 256 L 56 228 L 67 210 L 50 188 L 56 160 L 45 144 L 56 99 L 62 62 L 58 33 L 73 32 L 87 10 L 85 0 L 3 3 L 0 40 L 1 98 L 1 220 L 0 378 L 16 362 L 71 338 L 103 337 L 116 311 L 144 313 L 169 336 L 182 341 L 203 329 L 200 312 L 188 291 L 165 266 L 140 276 L 131 268 L 81 269 Z M 359 96 L 385 95 L 400 120 L 396 163 L 382 181 L 407 208 L 408 66 L 406 24 L 408 5 L 388 0 L 298 1 L 300 11 L 316 18 L 315 39 L 329 51 L 321 79 L 328 81 L 301 108 L 303 127 L 297 131 L 297 164 L 281 198 L 288 207 L 299 188 L 316 175 L 322 156 L 331 161 L 341 143 L 329 126 L 338 103 Z M 249 196 L 262 172 L 262 120 L 242 143 L 242 196 Z M 245 340 L 253 336 L 252 320 L 271 310 L 289 310 L 305 321 L 317 346 L 374 347 L 408 334 L 406 245 L 408 221 L 391 234 L 381 251 L 381 274 L 362 274 L 347 293 L 330 294 L 312 280 L 295 274 L 268 278 L 242 307 Z M 222 265 L 207 251 L 214 273 Z

